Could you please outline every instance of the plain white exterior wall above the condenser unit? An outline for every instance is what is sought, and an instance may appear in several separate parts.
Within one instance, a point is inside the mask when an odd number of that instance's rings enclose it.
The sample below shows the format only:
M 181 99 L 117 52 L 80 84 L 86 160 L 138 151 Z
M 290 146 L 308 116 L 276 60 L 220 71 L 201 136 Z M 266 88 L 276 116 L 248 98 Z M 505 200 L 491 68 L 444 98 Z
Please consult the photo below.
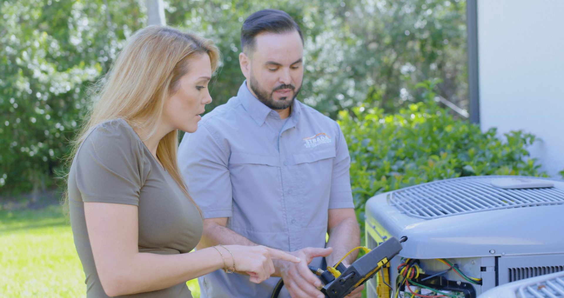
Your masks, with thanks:
M 522 129 L 554 177 L 564 169 L 564 0 L 478 0 L 480 124 Z

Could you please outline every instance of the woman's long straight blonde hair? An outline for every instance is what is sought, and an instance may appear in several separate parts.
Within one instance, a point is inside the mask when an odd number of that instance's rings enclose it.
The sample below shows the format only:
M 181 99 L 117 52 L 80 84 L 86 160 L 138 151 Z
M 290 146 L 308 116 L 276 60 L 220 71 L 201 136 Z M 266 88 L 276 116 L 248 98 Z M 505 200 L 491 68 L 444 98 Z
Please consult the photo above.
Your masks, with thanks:
M 107 120 L 124 119 L 136 132 L 149 132 L 140 137 L 151 137 L 156 132 L 165 100 L 177 91 L 179 79 L 190 71 L 191 59 L 201 54 L 209 55 L 214 72 L 220 54 L 212 41 L 163 26 L 149 26 L 135 32 L 109 72 L 96 84 L 94 106 L 72 143 L 67 164 L 72 163 L 90 130 Z M 157 158 L 195 203 L 180 174 L 177 150 L 178 132 L 173 130 L 158 142 Z M 68 206 L 68 193 L 64 204 Z

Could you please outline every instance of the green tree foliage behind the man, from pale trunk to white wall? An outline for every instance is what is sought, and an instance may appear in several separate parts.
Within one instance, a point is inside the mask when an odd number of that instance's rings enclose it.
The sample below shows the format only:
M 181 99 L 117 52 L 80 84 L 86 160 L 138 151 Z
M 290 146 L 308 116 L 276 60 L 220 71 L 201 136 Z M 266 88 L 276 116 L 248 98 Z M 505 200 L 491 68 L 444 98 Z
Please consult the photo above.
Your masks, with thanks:
M 224 55 L 210 108 L 243 81 L 241 25 L 263 8 L 287 11 L 301 26 L 306 68 L 300 98 L 331 117 L 361 104 L 397 111 L 403 102 L 420 101 L 415 85 L 435 77 L 442 80 L 438 95 L 468 105 L 464 1 L 171 0 L 169 24 L 211 38 Z

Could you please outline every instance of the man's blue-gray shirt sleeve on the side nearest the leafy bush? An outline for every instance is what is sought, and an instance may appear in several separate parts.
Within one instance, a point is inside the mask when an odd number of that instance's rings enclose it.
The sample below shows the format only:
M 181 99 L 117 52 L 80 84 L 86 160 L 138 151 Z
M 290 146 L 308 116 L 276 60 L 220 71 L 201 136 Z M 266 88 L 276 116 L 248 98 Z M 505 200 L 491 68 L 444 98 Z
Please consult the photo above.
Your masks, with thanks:
M 331 194 L 329 194 L 329 209 L 354 208 L 350 181 L 350 156 L 345 136 L 341 127 L 336 123 L 336 154 L 333 161 L 331 177 Z

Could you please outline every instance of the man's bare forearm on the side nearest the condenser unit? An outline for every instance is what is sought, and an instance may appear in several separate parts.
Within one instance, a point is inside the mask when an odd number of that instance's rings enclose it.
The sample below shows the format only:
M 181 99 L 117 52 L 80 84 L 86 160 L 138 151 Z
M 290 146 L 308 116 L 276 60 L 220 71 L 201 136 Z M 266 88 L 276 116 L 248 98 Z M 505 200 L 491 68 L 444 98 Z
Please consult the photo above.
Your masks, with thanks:
M 346 218 L 329 230 L 329 240 L 327 247 L 333 248 L 333 253 L 325 257 L 328 266 L 333 266 L 352 248 L 360 246 L 360 229 L 356 218 Z M 351 264 L 356 260 L 358 251 L 351 252 L 343 260 L 346 264 Z

